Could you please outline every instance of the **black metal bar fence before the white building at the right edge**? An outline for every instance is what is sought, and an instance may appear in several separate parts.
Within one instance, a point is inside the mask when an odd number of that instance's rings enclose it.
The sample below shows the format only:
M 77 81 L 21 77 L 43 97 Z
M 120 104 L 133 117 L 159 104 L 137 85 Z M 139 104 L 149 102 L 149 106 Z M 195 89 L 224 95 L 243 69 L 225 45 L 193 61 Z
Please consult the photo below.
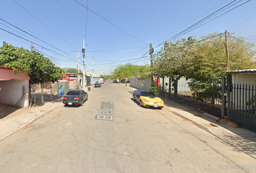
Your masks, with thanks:
M 229 84 L 228 117 L 239 126 L 256 132 L 255 85 Z

